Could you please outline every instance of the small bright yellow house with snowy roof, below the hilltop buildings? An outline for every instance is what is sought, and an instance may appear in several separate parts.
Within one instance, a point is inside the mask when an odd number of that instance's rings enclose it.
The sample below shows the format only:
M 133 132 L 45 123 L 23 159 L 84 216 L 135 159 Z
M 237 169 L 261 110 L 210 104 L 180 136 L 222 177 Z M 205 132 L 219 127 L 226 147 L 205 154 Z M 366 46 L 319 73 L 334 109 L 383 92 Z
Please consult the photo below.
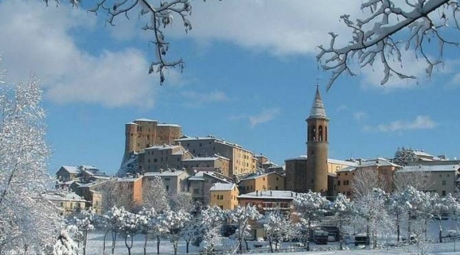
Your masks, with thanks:
M 210 189 L 210 206 L 217 205 L 223 210 L 233 210 L 238 207 L 240 191 L 234 183 L 215 183 Z

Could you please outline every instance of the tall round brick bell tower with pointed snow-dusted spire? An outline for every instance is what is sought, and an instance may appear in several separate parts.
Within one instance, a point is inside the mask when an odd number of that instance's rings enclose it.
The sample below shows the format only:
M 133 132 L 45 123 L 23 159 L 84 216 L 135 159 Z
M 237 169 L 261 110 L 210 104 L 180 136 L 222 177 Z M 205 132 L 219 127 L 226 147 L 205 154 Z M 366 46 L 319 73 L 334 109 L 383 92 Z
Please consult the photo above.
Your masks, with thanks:
M 316 95 L 307 121 L 306 190 L 326 194 L 328 190 L 329 118 L 316 85 Z

